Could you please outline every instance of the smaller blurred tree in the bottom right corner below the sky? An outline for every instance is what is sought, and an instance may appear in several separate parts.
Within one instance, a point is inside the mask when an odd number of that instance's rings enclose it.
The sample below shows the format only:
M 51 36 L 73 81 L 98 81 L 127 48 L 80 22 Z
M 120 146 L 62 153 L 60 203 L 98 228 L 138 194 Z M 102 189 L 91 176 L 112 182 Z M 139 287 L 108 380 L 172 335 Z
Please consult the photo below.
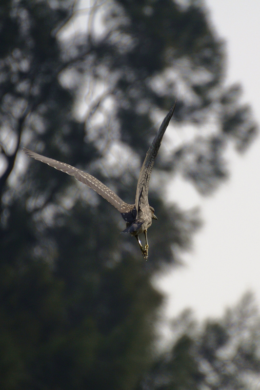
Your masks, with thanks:
M 246 293 L 219 320 L 198 324 L 191 312 L 172 324 L 173 339 L 139 390 L 256 390 L 260 380 L 260 314 Z M 172 344 L 171 347 L 169 345 Z

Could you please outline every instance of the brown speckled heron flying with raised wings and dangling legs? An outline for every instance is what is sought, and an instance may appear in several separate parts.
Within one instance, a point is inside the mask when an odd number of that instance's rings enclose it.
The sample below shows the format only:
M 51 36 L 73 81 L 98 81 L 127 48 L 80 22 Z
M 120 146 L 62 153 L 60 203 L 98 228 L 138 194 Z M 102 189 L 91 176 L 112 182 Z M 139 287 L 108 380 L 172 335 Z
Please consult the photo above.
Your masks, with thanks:
M 52 158 L 44 157 L 38 153 L 32 152 L 29 149 L 24 148 L 23 151 L 30 157 L 35 158 L 51 167 L 58 169 L 59 171 L 65 172 L 68 175 L 74 176 L 77 180 L 86 184 L 99 195 L 103 196 L 109 203 L 111 203 L 122 215 L 126 222 L 126 229 L 122 233 L 130 233 L 134 235 L 140 246 L 140 250 L 145 260 L 148 257 L 148 241 L 147 241 L 147 229 L 152 224 L 152 219 L 157 219 L 154 214 L 153 207 L 149 206 L 148 202 L 148 189 L 151 172 L 154 166 L 155 158 L 158 154 L 162 137 L 165 130 L 168 127 L 170 119 L 173 115 L 176 102 L 170 109 L 166 117 L 163 119 L 160 129 L 158 130 L 146 157 L 143 161 L 140 175 L 137 183 L 136 200 L 135 204 L 125 203 L 118 195 L 111 191 L 107 186 L 101 183 L 96 177 L 87 174 L 86 172 L 80 171 L 80 169 L 74 168 L 71 165 L 65 164 L 54 160 Z M 141 245 L 139 234 L 143 233 L 145 237 L 144 248 Z

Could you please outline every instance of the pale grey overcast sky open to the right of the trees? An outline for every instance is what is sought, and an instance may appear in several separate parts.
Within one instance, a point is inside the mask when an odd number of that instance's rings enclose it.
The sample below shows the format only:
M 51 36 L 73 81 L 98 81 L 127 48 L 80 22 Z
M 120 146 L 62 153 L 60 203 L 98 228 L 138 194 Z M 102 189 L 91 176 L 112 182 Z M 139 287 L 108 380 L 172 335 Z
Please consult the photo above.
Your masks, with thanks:
M 240 82 L 260 123 L 260 1 L 207 0 L 218 35 L 226 40 L 228 84 Z M 230 179 L 211 197 L 175 182 L 172 194 L 183 207 L 200 205 L 204 226 L 185 267 L 160 279 L 166 310 L 174 316 L 190 307 L 199 319 L 220 316 L 248 290 L 260 307 L 260 139 L 238 156 L 231 150 Z

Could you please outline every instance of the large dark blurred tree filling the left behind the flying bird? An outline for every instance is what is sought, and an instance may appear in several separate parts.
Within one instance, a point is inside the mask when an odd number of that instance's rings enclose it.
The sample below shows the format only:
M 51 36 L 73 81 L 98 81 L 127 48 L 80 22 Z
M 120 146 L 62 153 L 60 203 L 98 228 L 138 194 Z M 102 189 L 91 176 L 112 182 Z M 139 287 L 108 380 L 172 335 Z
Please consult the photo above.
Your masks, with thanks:
M 137 156 L 178 96 L 176 123 L 195 136 L 160 154 L 156 170 L 166 182 L 182 172 L 206 194 L 226 177 L 225 144 L 253 139 L 250 110 L 240 86 L 224 86 L 223 42 L 199 1 L 3 0 L 0 36 L 0 388 L 134 389 L 154 358 L 162 297 L 152 276 L 180 261 L 198 214 L 152 188 L 160 229 L 149 229 L 144 264 L 113 207 L 20 144 L 133 202 Z

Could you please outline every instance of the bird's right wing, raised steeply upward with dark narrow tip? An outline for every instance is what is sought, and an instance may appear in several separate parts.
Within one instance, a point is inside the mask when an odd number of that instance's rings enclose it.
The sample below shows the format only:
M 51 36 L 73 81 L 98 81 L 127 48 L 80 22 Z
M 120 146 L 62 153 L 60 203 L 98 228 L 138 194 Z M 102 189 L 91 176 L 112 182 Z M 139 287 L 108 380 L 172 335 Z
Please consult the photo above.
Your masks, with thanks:
M 162 124 L 160 125 L 160 129 L 158 130 L 148 152 L 146 153 L 146 157 L 143 161 L 138 183 L 137 183 L 137 190 L 136 190 L 135 205 L 136 205 L 137 212 L 139 212 L 141 205 L 148 205 L 149 181 L 154 166 L 154 161 L 158 154 L 162 137 L 165 133 L 165 130 L 168 127 L 171 117 L 173 116 L 176 101 L 174 103 L 174 106 L 170 109 L 166 117 L 163 119 Z

